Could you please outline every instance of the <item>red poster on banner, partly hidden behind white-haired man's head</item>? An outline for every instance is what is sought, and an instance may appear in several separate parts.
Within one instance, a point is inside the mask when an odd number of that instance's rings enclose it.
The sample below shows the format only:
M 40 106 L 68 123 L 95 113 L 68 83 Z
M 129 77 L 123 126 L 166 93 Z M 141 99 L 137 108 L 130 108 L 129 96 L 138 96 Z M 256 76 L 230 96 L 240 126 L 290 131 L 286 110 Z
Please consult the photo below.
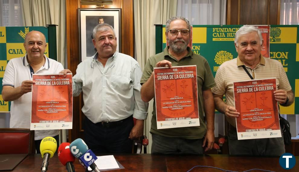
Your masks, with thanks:
M 259 31 L 262 33 L 263 45 L 261 54 L 264 57 L 270 57 L 270 25 L 256 25 Z

